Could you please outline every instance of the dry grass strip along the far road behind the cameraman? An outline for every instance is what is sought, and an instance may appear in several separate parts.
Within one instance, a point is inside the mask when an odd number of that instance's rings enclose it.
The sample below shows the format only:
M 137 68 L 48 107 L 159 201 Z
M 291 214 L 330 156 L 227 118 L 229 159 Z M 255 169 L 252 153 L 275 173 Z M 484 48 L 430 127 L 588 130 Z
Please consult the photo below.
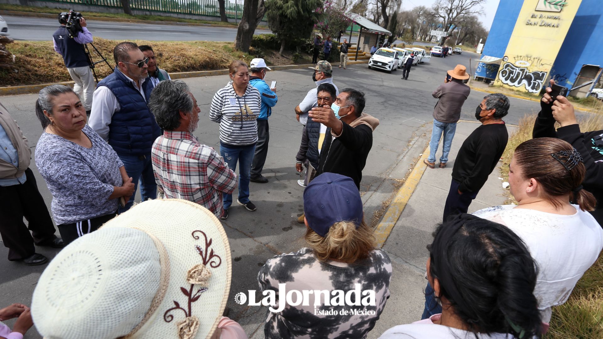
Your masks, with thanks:
M 157 55 L 160 68 L 170 72 L 209 71 L 214 69 L 227 69 L 232 60 L 241 59 L 247 62 L 253 59 L 252 55 L 235 51 L 234 43 L 230 42 L 168 42 L 134 40 L 138 45 L 151 45 Z M 95 37 L 94 45 L 107 58 L 111 66 L 113 61 L 113 47 L 119 43 L 116 40 L 107 40 Z M 0 84 L 4 86 L 17 86 L 25 84 L 57 83 L 71 81 L 69 72 L 65 68 L 62 57 L 54 52 L 51 41 L 15 41 L 7 45 L 7 49 L 16 55 L 14 71 L 0 71 Z M 90 47 L 93 60 L 98 61 L 98 55 Z M 269 65 L 290 65 L 290 59 L 282 58 L 271 60 Z M 274 61 L 274 62 L 272 62 Z M 96 74 L 104 78 L 112 72 L 106 63 L 96 65 Z

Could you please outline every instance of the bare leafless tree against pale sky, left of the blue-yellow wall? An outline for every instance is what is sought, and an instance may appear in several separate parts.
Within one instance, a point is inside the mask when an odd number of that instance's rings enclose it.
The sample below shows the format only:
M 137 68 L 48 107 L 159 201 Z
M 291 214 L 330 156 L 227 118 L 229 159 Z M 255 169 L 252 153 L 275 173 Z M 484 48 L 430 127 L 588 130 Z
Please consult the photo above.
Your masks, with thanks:
M 459 17 L 463 15 L 476 14 L 482 10 L 482 4 L 486 0 L 438 0 L 432 7 L 432 14 L 440 19 L 444 31 L 447 32 L 440 45 L 452 36 L 454 29 L 458 26 Z M 452 26 L 454 25 L 454 27 Z

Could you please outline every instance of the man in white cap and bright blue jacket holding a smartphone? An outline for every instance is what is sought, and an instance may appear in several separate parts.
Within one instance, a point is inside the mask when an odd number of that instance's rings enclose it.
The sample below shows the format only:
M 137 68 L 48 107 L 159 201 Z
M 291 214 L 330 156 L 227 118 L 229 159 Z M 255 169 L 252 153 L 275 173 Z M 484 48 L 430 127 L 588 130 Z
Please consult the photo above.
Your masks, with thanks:
M 256 87 L 262 95 L 262 106 L 260 107 L 260 115 L 257 117 L 257 143 L 256 152 L 251 163 L 251 178 L 252 182 L 267 183 L 268 178 L 262 176 L 266 156 L 268 155 L 268 140 L 270 139 L 270 131 L 268 130 L 268 116 L 272 113 L 272 107 L 279 100 L 276 96 L 276 81 L 273 81 L 273 86 L 269 87 L 264 78 L 266 72 L 270 68 L 266 66 L 266 62 L 262 58 L 256 58 L 249 63 L 249 84 Z

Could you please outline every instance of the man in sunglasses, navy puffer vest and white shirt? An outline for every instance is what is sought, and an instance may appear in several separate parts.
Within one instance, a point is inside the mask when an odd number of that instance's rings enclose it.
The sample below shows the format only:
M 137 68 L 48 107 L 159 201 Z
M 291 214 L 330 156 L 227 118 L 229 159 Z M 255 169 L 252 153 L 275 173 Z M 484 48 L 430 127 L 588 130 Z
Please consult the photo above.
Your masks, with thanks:
M 89 125 L 113 147 L 134 182 L 134 194 L 119 208 L 121 213 L 134 203 L 139 181 L 142 201 L 157 198 L 151 147 L 162 131 L 147 105 L 153 90 L 147 78 L 148 58 L 133 42 L 118 43 L 113 58 L 115 71 L 94 91 Z

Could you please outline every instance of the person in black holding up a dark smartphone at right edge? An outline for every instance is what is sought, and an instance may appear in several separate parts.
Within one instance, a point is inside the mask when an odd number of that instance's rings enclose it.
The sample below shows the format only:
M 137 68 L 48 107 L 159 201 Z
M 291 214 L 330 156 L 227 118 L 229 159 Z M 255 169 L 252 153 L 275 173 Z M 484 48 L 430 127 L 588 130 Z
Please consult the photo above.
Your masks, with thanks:
M 555 81 L 551 80 L 551 84 Z M 597 206 L 590 214 L 603 227 L 603 130 L 582 133 L 572 104 L 567 98 L 558 95 L 551 97 L 551 87 L 540 101 L 540 112 L 534 123 L 532 138 L 558 138 L 572 144 L 586 167 L 586 176 L 582 186 L 595 195 Z M 555 121 L 561 127 L 555 131 Z

